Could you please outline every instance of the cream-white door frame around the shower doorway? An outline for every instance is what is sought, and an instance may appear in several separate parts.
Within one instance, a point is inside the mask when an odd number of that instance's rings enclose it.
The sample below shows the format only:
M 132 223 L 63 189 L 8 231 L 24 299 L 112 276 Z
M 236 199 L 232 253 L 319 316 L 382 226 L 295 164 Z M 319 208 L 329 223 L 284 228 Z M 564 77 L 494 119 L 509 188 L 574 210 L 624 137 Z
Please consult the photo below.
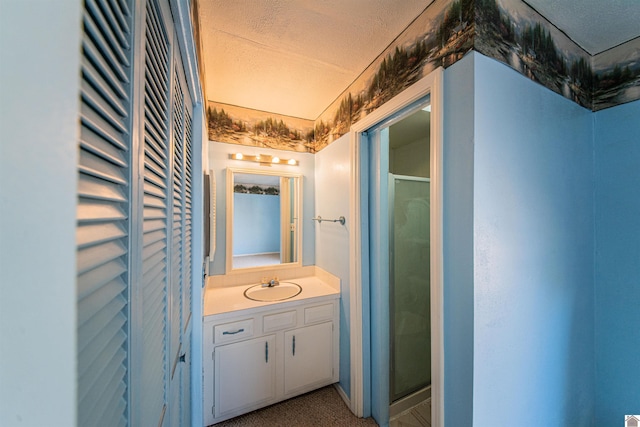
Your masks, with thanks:
M 351 410 L 358 416 L 364 415 L 364 381 L 369 375 L 364 372 L 362 300 L 362 248 L 360 246 L 362 221 L 360 221 L 360 175 L 362 165 L 362 133 L 399 112 L 404 107 L 430 95 L 431 97 L 431 405 L 432 425 L 444 426 L 444 331 L 442 321 L 442 129 L 443 129 L 443 75 L 438 67 L 411 87 L 396 95 L 380 108 L 355 123 L 350 129 L 351 156 L 351 197 L 349 201 L 350 217 L 353 218 L 349 233 L 349 287 L 351 326 Z M 368 255 L 367 255 L 368 256 Z M 368 284 L 366 285 L 368 286 Z M 368 351 L 368 350 L 367 350 Z

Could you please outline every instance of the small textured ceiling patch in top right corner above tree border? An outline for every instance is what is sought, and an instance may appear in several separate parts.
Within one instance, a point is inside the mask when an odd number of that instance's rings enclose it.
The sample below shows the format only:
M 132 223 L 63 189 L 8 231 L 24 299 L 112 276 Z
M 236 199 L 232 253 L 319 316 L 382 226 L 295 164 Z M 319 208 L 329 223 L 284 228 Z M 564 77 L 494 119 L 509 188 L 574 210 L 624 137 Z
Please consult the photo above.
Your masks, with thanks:
M 591 55 L 640 37 L 638 0 L 525 0 Z

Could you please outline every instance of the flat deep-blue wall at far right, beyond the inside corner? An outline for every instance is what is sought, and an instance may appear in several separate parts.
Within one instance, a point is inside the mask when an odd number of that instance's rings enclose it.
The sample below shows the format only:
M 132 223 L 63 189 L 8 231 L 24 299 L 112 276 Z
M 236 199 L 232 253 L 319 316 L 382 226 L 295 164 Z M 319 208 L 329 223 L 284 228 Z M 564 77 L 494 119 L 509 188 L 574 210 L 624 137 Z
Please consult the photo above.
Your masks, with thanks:
M 640 414 L 640 101 L 594 114 L 597 426 Z

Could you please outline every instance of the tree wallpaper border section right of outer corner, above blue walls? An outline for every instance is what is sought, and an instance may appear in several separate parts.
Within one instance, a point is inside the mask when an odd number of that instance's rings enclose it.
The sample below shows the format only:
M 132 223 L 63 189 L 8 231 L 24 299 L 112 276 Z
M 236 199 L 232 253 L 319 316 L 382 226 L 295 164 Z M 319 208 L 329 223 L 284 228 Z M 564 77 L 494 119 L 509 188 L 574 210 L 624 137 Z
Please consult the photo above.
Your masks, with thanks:
M 476 0 L 474 49 L 593 111 L 640 99 L 640 38 L 590 55 L 522 0 Z

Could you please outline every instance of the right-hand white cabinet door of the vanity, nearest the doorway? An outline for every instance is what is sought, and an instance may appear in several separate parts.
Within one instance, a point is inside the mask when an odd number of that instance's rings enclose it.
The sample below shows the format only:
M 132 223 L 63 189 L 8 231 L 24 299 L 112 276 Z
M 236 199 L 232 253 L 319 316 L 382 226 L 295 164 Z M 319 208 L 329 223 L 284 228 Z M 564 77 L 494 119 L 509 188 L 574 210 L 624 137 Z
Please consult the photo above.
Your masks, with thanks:
M 333 322 L 284 334 L 284 393 L 330 384 L 333 378 Z

